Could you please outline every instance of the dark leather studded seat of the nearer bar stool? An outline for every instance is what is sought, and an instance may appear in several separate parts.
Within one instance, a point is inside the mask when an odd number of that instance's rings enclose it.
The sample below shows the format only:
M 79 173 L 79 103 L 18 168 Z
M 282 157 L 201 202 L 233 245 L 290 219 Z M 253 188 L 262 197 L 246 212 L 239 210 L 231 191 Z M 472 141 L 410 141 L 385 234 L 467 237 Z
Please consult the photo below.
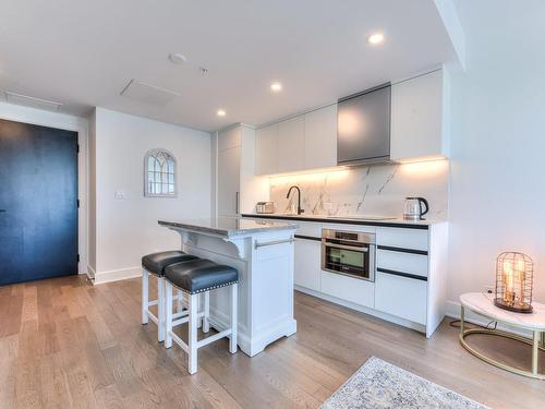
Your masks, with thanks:
M 237 268 L 197 258 L 171 264 L 165 268 L 165 278 L 184 292 L 194 294 L 239 281 Z

